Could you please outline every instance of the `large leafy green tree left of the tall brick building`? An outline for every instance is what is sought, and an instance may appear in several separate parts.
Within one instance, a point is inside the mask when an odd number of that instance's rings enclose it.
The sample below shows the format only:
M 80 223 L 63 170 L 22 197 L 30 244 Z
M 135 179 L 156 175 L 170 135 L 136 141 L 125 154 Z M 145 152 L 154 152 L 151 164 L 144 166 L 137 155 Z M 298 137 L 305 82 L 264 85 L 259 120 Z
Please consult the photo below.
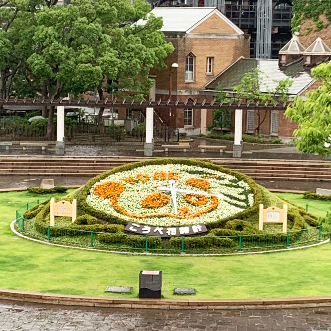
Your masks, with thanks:
M 46 1 L 43 8 L 36 9 L 30 16 L 32 24 L 25 29 L 30 36 L 30 45 L 22 47 L 26 86 L 45 99 L 97 90 L 103 100 L 107 79 L 118 81 L 118 89 L 148 92 L 150 69 L 164 68 L 163 59 L 173 46 L 160 31 L 162 19 L 148 17 L 151 7 L 145 0 L 133 4 L 130 0 L 72 0 L 68 6 L 52 6 L 54 3 Z M 146 19 L 146 24 L 128 24 L 139 19 Z M 103 108 L 99 112 L 101 133 L 102 113 Z M 54 107 L 49 111 L 48 138 L 53 137 L 53 116 Z

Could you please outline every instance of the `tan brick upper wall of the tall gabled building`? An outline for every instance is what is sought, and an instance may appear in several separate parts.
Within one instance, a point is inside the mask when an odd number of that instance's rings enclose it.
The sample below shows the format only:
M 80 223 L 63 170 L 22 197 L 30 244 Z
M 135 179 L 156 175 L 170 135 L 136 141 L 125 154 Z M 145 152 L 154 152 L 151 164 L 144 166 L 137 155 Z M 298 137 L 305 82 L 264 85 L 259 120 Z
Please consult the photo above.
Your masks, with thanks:
M 152 70 L 156 75 L 156 88 L 169 89 L 169 68 L 177 63 L 178 68 L 172 73 L 172 90 L 203 89 L 217 74 L 231 65 L 240 56 L 250 56 L 250 40 L 248 35 L 238 34 L 231 25 L 214 14 L 192 32 L 168 33 L 166 40 L 175 48 L 165 59 L 166 70 Z M 185 57 L 192 53 L 194 59 L 194 80 L 185 82 Z M 207 74 L 207 57 L 213 57 L 213 72 Z M 175 98 L 175 97 L 173 97 Z

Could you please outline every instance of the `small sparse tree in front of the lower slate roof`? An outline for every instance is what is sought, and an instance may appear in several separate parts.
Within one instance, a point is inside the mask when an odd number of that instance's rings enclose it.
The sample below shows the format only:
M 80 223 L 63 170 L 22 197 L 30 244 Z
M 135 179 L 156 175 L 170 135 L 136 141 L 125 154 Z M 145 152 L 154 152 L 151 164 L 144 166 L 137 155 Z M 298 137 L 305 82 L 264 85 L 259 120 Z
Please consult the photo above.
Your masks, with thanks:
M 272 90 L 266 86 L 266 92 L 261 91 L 263 79 L 267 77 L 266 74 L 259 69 L 255 68 L 250 72 L 245 73 L 241 78 L 240 83 L 233 87 L 234 96 L 229 98 L 229 94 L 224 94 L 223 91 L 217 94 L 220 101 L 242 101 L 260 102 L 260 104 L 275 103 L 276 101 L 287 101 L 288 90 L 293 81 L 289 78 L 273 81 L 277 84 Z M 217 100 L 218 101 L 218 100 Z M 254 134 L 260 134 L 260 126 L 266 118 L 266 111 L 255 110 L 258 122 L 254 129 Z

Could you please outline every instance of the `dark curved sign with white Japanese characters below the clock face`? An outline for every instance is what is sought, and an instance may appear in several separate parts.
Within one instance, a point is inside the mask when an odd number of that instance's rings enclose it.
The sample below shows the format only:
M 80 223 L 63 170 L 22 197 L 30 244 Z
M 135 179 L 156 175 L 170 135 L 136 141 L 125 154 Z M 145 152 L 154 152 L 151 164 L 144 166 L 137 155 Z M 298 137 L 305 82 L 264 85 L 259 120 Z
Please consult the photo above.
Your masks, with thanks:
M 175 236 L 192 236 L 208 232 L 206 225 L 201 223 L 197 225 L 187 225 L 181 227 L 156 227 L 141 225 L 136 223 L 129 223 L 125 227 L 125 231 L 131 234 L 148 235 L 148 236 L 162 236 L 162 237 L 175 237 Z

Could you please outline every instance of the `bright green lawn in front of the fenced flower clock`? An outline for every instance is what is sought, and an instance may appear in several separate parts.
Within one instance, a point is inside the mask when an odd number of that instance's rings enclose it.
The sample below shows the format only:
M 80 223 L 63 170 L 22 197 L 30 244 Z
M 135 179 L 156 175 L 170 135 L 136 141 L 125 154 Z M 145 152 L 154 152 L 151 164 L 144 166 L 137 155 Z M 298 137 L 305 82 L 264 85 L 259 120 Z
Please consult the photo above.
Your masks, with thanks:
M 133 286 L 134 292 L 122 297 L 137 297 L 139 271 L 156 269 L 163 270 L 165 298 L 174 298 L 174 287 L 196 288 L 196 299 L 331 295 L 330 244 L 224 257 L 127 256 L 65 249 L 18 238 L 11 232 L 16 209 L 38 198 L 24 191 L 0 193 L 0 288 L 112 296 L 104 292 L 106 286 L 123 285 Z M 286 199 L 294 202 L 289 196 Z

